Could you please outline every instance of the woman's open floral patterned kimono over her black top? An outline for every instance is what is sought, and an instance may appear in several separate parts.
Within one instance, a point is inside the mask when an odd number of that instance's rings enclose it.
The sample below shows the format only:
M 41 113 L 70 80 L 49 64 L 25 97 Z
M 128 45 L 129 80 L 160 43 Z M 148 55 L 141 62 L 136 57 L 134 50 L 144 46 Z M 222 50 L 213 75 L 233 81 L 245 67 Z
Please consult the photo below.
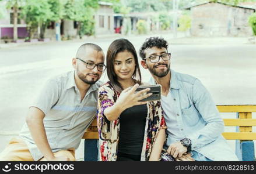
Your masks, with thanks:
M 120 119 L 108 121 L 103 114 L 105 108 L 113 106 L 120 93 L 114 90 L 111 82 L 99 89 L 97 107 L 97 127 L 99 131 L 99 161 L 117 161 L 117 148 L 120 131 Z M 149 161 L 149 157 L 160 129 L 166 129 L 160 100 L 147 103 L 148 114 L 141 153 L 141 161 Z

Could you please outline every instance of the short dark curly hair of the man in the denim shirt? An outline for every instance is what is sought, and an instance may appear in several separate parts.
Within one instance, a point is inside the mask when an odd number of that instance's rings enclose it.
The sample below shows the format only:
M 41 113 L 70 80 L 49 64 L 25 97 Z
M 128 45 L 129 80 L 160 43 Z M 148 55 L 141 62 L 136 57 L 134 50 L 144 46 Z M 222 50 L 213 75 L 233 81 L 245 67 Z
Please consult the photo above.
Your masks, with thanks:
M 157 48 L 168 48 L 168 42 L 164 40 L 163 38 L 159 37 L 150 37 L 146 39 L 146 41 L 143 43 L 141 48 L 139 49 L 139 56 L 141 56 L 142 59 L 145 59 L 146 54 L 144 52 L 147 48 L 152 48 L 156 46 Z

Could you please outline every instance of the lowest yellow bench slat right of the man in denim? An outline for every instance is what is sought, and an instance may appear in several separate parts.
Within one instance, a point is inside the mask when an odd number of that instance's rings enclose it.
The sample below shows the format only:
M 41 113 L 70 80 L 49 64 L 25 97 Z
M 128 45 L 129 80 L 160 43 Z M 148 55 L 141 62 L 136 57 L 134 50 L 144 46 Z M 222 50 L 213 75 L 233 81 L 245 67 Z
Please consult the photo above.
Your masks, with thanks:
M 256 133 L 253 132 L 223 132 L 226 140 L 256 140 Z

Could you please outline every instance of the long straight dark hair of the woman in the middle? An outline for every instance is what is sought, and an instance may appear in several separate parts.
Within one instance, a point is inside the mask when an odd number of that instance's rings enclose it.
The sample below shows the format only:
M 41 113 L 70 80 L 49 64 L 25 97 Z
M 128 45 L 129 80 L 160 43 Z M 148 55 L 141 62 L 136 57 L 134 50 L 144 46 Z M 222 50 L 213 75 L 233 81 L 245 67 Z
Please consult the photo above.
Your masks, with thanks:
M 117 81 L 117 74 L 115 74 L 114 72 L 114 61 L 117 54 L 120 52 L 124 52 L 125 50 L 132 53 L 132 55 L 134 56 L 135 70 L 134 74 L 132 74 L 132 78 L 135 79 L 137 84 L 141 85 L 141 71 L 139 70 L 138 56 L 134 45 L 132 45 L 132 43 L 129 42 L 127 39 L 116 39 L 110 44 L 107 50 L 107 76 L 114 89 L 117 90 L 119 93 L 121 93 L 124 89 Z

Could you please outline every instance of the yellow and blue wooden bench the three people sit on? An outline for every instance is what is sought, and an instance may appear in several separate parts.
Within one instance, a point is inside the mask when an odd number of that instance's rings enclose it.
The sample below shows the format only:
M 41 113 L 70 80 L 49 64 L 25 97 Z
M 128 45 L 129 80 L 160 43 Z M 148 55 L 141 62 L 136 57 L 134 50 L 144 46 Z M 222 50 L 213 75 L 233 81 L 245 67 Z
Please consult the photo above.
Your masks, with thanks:
M 256 119 L 252 113 L 256 113 L 256 105 L 218 105 L 220 113 L 236 113 L 234 119 L 223 119 L 225 126 L 236 126 L 236 132 L 223 132 L 227 140 L 236 140 L 236 154 L 241 161 L 255 161 L 254 142 L 256 133 L 253 127 L 256 126 Z M 97 132 L 96 119 L 83 135 L 85 139 L 85 161 L 97 161 Z

